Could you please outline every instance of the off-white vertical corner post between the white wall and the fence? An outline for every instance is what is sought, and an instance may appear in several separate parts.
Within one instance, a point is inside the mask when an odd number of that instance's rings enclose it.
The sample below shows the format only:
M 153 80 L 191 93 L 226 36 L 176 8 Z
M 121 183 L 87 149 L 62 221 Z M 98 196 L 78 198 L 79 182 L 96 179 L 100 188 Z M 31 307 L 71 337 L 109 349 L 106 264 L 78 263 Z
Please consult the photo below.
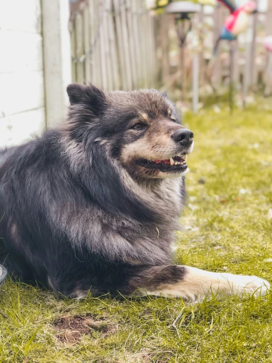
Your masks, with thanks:
M 69 105 L 66 87 L 71 83 L 69 0 L 41 0 L 46 124 L 61 121 Z

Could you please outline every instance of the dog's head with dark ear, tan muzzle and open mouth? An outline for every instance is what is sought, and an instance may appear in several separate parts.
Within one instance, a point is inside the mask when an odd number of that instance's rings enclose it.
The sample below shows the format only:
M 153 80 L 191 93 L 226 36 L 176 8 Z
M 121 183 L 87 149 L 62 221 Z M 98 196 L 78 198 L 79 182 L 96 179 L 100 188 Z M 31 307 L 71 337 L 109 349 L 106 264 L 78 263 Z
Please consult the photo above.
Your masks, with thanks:
M 102 91 L 70 84 L 70 135 L 76 143 L 100 144 L 133 177 L 185 174 L 193 133 L 181 125 L 174 104 L 157 90 Z

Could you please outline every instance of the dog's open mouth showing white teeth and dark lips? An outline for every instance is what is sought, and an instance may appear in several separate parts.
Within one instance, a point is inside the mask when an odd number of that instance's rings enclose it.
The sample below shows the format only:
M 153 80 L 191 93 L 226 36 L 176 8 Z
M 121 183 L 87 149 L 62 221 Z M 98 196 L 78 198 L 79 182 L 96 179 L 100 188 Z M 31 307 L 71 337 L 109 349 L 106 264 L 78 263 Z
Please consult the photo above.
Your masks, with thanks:
M 169 171 L 182 171 L 188 168 L 187 164 L 187 154 L 182 156 L 174 156 L 166 160 L 147 160 L 139 159 L 136 160 L 136 164 L 140 167 L 147 169 L 159 169 L 163 172 Z

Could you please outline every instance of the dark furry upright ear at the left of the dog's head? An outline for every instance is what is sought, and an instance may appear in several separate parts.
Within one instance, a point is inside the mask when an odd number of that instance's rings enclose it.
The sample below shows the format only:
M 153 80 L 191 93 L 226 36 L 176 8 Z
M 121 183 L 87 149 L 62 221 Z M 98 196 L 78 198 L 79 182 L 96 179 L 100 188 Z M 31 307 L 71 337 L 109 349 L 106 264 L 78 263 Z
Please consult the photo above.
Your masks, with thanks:
M 71 105 L 84 104 L 94 113 L 97 113 L 106 104 L 104 92 L 93 84 L 69 84 L 67 93 Z

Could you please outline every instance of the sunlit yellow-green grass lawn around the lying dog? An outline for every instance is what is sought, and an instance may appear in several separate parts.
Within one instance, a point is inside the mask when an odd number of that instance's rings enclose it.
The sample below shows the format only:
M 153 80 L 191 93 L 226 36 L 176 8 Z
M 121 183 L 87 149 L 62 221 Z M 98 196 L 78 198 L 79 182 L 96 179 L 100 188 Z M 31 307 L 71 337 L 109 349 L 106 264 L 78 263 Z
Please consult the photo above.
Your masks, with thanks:
M 186 114 L 185 125 L 195 148 L 175 262 L 272 282 L 264 261 L 272 257 L 272 107 L 262 101 L 231 116 L 211 108 Z M 0 316 L 0 363 L 272 362 L 271 295 L 194 306 L 154 297 L 60 301 L 7 280 L 0 310 L 10 316 Z

